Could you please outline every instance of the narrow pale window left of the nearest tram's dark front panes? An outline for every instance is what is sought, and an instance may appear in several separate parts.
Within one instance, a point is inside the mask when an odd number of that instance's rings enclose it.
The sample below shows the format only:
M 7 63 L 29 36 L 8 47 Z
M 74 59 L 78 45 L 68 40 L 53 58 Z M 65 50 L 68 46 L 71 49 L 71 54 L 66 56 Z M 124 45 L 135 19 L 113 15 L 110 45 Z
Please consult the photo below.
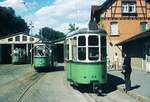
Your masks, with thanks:
M 72 40 L 72 59 L 77 60 L 77 38 L 74 37 Z

